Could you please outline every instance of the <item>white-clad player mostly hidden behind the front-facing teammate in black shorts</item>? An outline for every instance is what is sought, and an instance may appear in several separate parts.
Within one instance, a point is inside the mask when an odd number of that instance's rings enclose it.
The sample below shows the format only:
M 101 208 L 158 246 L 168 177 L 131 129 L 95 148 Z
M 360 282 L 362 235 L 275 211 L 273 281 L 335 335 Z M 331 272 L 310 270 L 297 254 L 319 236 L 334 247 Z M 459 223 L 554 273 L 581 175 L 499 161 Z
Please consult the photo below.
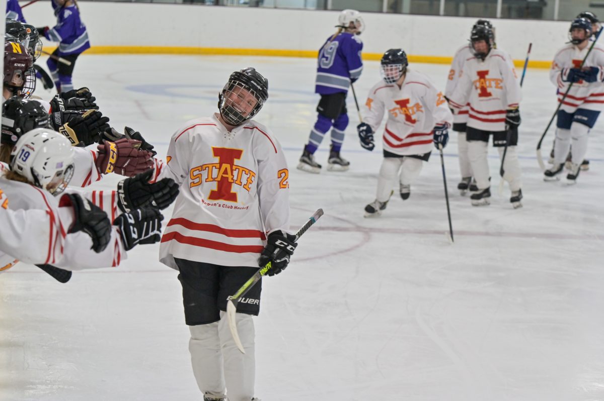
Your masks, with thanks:
M 472 29 L 479 25 L 489 27 L 491 30 L 493 29 L 493 25 L 486 19 L 479 19 L 476 21 L 476 24 L 474 24 Z M 494 34 L 493 42 L 495 42 Z M 446 99 L 451 98 L 451 95 L 459 82 L 459 78 L 461 77 L 464 63 L 466 63 L 466 60 L 471 60 L 472 58 L 474 58 L 474 49 L 472 49 L 471 43 L 466 43 L 455 52 L 451 63 L 451 69 L 449 70 L 447 84 L 445 86 Z M 453 130 L 457 133 L 457 151 L 459 153 L 459 170 L 461 172 L 461 181 L 458 183 L 457 189 L 460 191 L 461 195 L 465 195 L 468 190 L 471 192 L 477 190 L 476 183 L 472 182 L 472 165 L 467 156 L 466 124 L 468 112 L 469 107 L 466 105 L 453 115 Z

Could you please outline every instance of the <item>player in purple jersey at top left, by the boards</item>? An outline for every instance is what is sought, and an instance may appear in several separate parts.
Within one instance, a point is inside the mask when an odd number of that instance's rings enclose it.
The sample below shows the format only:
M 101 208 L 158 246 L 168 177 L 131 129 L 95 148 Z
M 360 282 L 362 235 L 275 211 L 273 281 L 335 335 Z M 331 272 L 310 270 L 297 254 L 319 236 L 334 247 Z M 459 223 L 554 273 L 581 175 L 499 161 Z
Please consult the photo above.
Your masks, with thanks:
M 53 52 L 56 57 L 65 58 L 71 65 L 57 62 L 48 58 L 47 65 L 53 77 L 57 92 L 68 92 L 74 89 L 71 82 L 77 57 L 90 48 L 86 26 L 80 20 L 80 9 L 76 0 L 52 0 L 57 25 L 54 28 L 37 28 L 37 31 L 52 42 L 59 42 L 59 47 Z

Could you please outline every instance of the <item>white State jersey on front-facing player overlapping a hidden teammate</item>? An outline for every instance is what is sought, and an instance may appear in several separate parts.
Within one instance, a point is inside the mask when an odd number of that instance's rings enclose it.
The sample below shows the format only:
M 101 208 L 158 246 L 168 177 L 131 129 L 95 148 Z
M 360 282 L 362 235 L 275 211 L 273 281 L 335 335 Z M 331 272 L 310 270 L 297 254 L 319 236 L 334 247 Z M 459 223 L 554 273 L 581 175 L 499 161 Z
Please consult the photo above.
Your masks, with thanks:
M 506 110 L 518 107 L 521 100 L 512 59 L 491 49 L 484 61 L 476 57 L 466 61 L 449 104 L 461 110 L 469 103 L 467 126 L 496 132 L 506 130 Z

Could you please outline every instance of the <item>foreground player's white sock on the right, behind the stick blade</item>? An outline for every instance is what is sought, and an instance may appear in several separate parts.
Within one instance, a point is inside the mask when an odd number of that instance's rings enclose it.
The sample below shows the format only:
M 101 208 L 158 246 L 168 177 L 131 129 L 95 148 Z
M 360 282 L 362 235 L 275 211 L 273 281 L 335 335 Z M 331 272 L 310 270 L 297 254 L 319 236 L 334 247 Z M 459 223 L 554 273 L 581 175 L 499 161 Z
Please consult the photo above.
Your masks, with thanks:
M 245 354 L 235 345 L 225 312 L 220 312 L 218 322 L 226 391 L 229 401 L 249 401 L 254 397 L 255 382 L 254 321 L 248 314 L 237 313 L 235 317 Z

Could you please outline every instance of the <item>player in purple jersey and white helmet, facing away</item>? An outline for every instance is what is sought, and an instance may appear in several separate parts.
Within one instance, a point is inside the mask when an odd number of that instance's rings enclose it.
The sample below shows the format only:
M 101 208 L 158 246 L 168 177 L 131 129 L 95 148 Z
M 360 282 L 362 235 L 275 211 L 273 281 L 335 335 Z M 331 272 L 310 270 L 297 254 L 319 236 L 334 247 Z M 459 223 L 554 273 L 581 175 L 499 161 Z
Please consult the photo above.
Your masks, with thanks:
M 330 129 L 332 144 L 327 169 L 346 171 L 350 166 L 350 162 L 340 156 L 340 149 L 348 125 L 346 94 L 363 69 L 363 43 L 358 35 L 364 30 L 365 23 L 359 11 L 344 10 L 338 17 L 336 27 L 338 31 L 326 40 L 319 51 L 315 93 L 321 95 L 321 100 L 316 107 L 318 116 L 315 125 L 310 130 L 308 143 L 298 164 L 298 169 L 315 174 L 321 172 L 321 165 L 315 162 L 314 153 Z

